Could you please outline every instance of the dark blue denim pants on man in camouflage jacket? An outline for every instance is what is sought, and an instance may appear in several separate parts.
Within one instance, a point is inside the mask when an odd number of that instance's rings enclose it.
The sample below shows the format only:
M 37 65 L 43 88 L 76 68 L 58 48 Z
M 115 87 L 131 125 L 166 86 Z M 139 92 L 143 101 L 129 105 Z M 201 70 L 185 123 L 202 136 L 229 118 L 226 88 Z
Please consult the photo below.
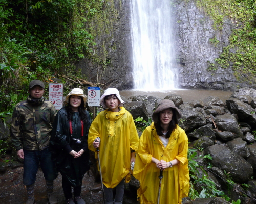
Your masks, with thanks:
M 53 172 L 53 163 L 50 148 L 46 148 L 42 151 L 29 151 L 23 150 L 24 152 L 24 173 L 23 173 L 23 184 L 28 186 L 35 183 L 36 173 L 39 165 L 44 172 L 45 179 L 53 181 L 55 175 Z

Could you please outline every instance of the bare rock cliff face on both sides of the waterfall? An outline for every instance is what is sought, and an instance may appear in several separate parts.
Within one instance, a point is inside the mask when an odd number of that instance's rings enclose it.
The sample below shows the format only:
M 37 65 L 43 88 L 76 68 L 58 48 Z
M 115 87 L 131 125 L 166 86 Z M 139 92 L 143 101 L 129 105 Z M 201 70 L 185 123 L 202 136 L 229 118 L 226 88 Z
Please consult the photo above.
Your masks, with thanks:
M 102 27 L 99 28 L 97 19 L 90 25 L 98 30 L 94 57 L 100 56 L 103 60 L 96 63 L 92 59 L 82 60 L 77 67 L 89 81 L 105 83 L 106 88 L 130 89 L 133 86 L 130 0 L 110 2 L 112 10 L 100 20 Z M 231 67 L 209 69 L 228 45 L 236 23 L 226 19 L 222 30 L 214 29 L 214 22 L 197 8 L 195 0 L 175 0 L 173 7 L 180 88 L 236 90 L 248 86 L 246 82 L 237 81 Z

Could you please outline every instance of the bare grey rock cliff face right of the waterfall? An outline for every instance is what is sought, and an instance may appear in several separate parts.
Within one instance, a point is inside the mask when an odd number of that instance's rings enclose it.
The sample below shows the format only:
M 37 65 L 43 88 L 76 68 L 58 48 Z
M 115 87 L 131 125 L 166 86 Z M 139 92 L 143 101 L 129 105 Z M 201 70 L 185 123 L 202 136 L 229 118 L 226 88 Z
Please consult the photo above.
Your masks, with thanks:
M 195 1 L 177 1 L 174 7 L 176 23 L 177 58 L 180 60 L 180 86 L 182 88 L 209 88 L 236 90 L 238 83 L 231 67 L 209 70 L 209 64 L 219 57 L 236 23 L 226 19 L 222 30 L 214 29 L 214 22 L 200 11 Z M 219 43 L 214 43 L 214 39 Z

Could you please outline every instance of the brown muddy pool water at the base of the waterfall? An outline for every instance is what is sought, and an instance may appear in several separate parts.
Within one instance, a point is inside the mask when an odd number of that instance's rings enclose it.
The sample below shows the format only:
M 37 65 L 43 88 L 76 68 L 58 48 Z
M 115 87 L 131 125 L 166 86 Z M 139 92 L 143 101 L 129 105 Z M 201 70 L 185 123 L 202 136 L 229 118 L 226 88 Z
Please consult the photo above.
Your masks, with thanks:
M 169 94 L 177 94 L 180 95 L 184 102 L 188 100 L 199 100 L 203 99 L 207 96 L 217 96 L 224 103 L 232 94 L 232 91 L 220 91 L 220 90 L 204 90 L 204 89 L 176 89 L 176 90 L 160 90 L 160 91 L 143 91 L 143 90 L 123 90 L 120 91 L 120 95 L 125 98 L 129 98 L 130 96 L 138 96 L 138 95 L 148 95 L 155 96 L 156 98 L 164 99 L 165 96 Z

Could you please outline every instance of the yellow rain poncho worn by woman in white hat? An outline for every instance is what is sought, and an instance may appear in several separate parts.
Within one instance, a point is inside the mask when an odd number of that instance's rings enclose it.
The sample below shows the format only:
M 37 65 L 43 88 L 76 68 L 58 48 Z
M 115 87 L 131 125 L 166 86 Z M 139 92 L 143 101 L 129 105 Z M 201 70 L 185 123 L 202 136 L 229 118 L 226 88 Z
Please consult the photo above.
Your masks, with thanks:
M 124 107 L 120 109 L 119 112 L 109 109 L 100 112 L 92 122 L 88 135 L 88 147 L 92 151 L 96 151 L 94 140 L 100 137 L 102 179 L 107 188 L 114 188 L 124 177 L 126 183 L 130 181 L 131 149 L 137 151 L 139 145 L 133 116 Z

